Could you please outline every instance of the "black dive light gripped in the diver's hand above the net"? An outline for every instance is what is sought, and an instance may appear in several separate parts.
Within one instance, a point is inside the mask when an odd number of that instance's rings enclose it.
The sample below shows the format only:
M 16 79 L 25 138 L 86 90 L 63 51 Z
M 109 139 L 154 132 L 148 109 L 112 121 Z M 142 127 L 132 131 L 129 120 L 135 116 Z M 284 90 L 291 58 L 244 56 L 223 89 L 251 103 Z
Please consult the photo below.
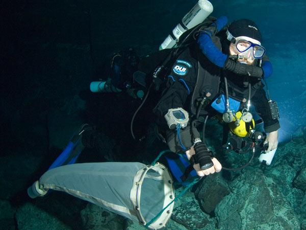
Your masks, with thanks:
M 191 165 L 200 164 L 200 169 L 205 170 L 214 165 L 213 152 L 202 142 L 197 142 L 193 146 L 195 154 L 190 158 Z

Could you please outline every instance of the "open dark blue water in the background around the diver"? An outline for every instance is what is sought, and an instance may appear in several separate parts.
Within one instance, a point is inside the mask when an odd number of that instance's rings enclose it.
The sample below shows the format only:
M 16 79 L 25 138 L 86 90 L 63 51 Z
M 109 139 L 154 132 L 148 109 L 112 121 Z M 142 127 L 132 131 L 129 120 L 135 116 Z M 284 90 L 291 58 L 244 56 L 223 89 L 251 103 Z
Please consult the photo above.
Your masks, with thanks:
M 211 3 L 215 17 L 225 15 L 229 21 L 239 18 L 256 21 L 263 34 L 262 44 L 273 65 L 273 75 L 267 82 L 281 113 L 279 142 L 285 145 L 305 135 L 304 1 L 223 0 Z M 195 4 L 196 1 L 182 0 L 1 3 L 2 229 L 31 229 L 18 222 L 27 209 L 24 205 L 33 203 L 24 191 L 52 164 L 72 132 L 82 123 L 96 125 L 110 140 L 119 142 L 121 145 L 117 144 L 114 151 L 126 152 L 126 161 L 141 160 L 139 150 L 145 147 L 137 146 L 129 131 L 132 114 L 139 102 L 131 101 L 128 96 L 91 94 L 89 84 L 93 80 L 106 79 L 106 60 L 122 48 L 133 47 L 142 57 L 157 51 L 164 38 Z M 140 114 L 142 119 L 138 119 L 137 134 L 142 133 L 146 125 L 145 114 Z M 154 152 L 152 149 L 148 147 L 146 151 Z M 152 159 L 154 156 L 150 155 L 145 160 L 149 163 Z M 103 160 L 106 157 L 90 150 L 80 158 L 81 162 Z M 75 218 L 79 222 L 67 220 L 64 207 L 68 205 L 67 215 L 71 217 L 73 212 L 79 215 L 86 204 L 73 199 L 76 208 L 72 209 L 67 202 L 72 198 L 60 195 L 54 199 L 61 204 L 47 213 L 64 221 L 71 229 L 79 229 L 80 218 Z M 47 210 L 44 202 L 52 203 L 45 199 L 36 205 Z M 59 209 L 61 214 L 56 214 Z M 33 225 L 32 229 L 37 228 Z

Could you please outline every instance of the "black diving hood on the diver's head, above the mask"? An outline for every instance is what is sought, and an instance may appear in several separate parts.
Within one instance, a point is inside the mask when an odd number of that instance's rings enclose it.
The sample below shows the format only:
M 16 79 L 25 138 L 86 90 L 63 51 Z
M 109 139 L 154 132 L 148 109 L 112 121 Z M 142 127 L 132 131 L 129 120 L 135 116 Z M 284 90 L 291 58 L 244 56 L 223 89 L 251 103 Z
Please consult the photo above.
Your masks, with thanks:
M 262 35 L 257 25 L 249 19 L 233 21 L 230 27 L 228 27 L 228 31 L 230 31 L 234 37 L 246 36 L 262 42 Z

